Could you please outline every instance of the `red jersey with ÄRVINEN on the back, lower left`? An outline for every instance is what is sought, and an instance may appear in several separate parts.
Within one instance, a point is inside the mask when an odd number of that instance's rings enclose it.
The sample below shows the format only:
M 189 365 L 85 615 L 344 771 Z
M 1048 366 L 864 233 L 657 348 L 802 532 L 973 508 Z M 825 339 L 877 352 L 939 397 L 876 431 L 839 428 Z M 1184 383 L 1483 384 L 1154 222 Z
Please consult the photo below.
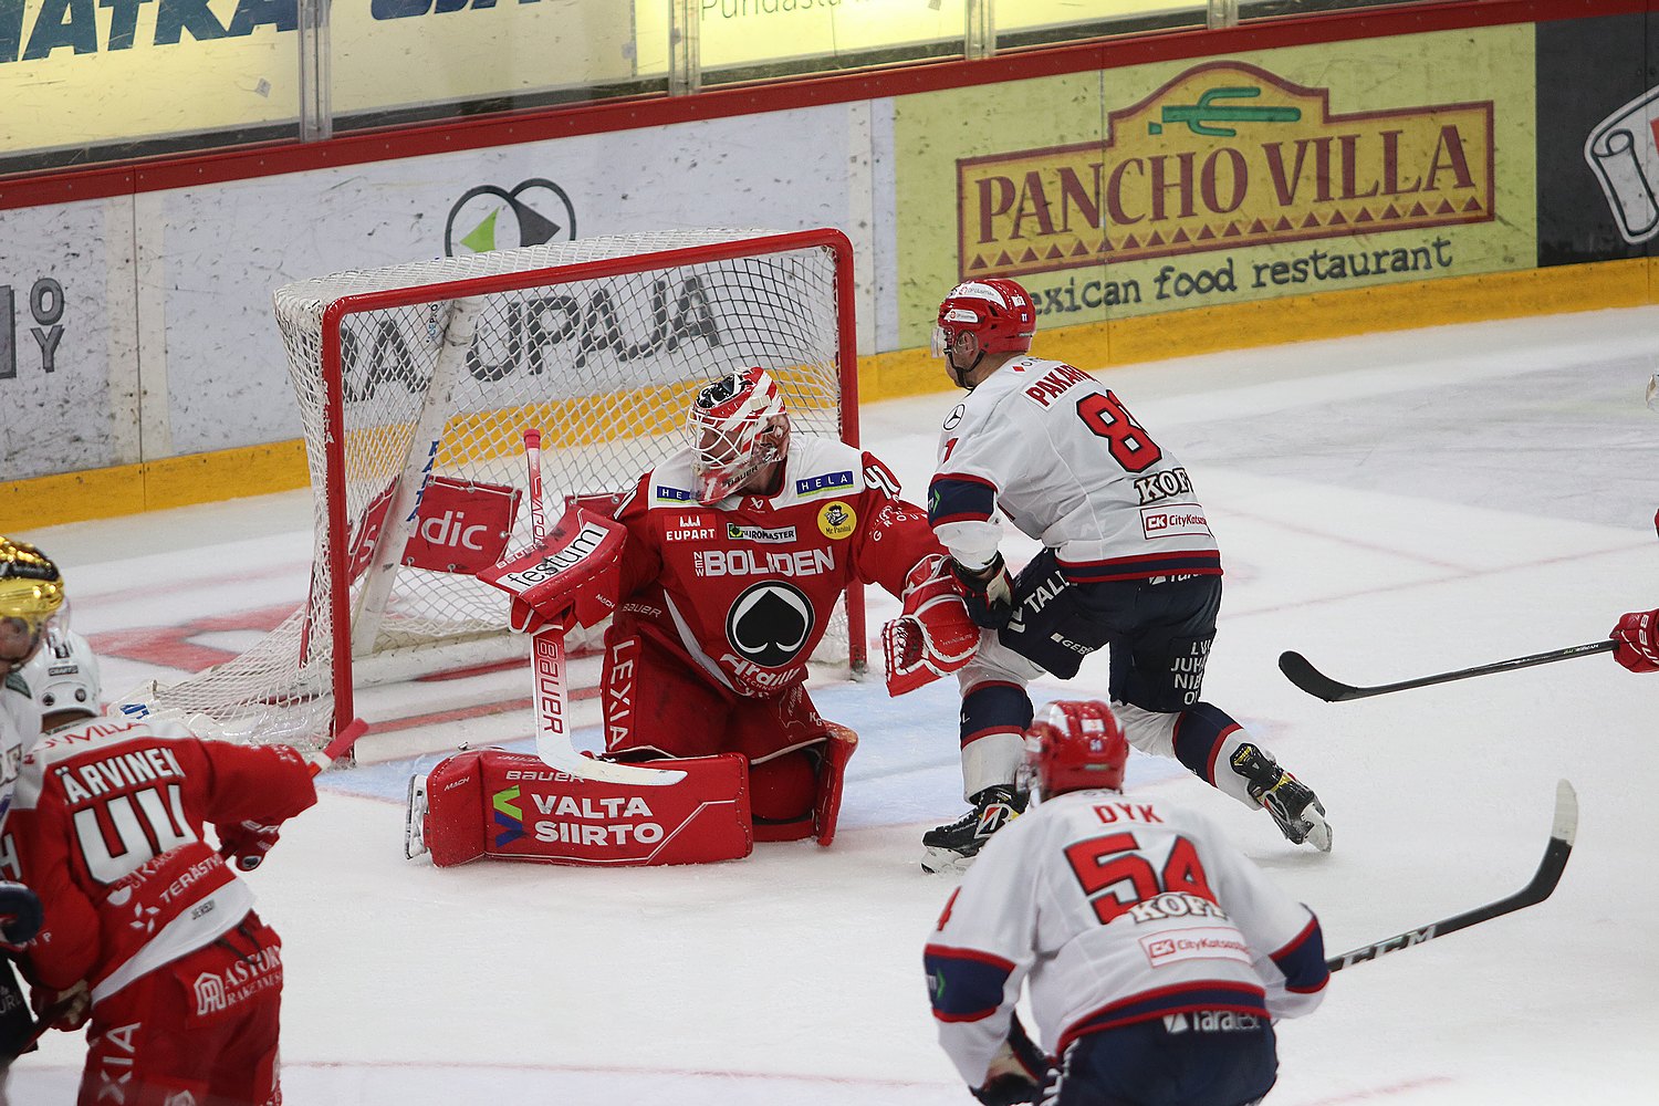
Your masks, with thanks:
M 254 897 L 204 824 L 275 826 L 317 801 L 287 746 L 201 741 L 161 721 L 90 718 L 23 759 L 8 852 L 45 904 L 32 977 L 103 1002 L 232 930 Z

